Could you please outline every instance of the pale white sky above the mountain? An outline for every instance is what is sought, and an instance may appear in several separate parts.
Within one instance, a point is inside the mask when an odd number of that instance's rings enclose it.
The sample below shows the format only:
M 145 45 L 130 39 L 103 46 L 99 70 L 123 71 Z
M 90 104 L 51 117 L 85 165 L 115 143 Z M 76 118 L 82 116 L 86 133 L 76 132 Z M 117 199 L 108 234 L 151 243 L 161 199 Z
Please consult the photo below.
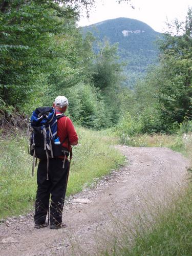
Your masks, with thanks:
M 130 4 L 131 3 L 131 4 Z M 192 0 L 131 0 L 130 3 L 118 4 L 116 0 L 96 0 L 95 8 L 90 11 L 90 18 L 82 16 L 79 26 L 88 26 L 106 19 L 126 17 L 138 19 L 157 32 L 166 32 L 166 20 L 175 18 L 184 21 Z M 134 6 L 134 9 L 131 7 Z

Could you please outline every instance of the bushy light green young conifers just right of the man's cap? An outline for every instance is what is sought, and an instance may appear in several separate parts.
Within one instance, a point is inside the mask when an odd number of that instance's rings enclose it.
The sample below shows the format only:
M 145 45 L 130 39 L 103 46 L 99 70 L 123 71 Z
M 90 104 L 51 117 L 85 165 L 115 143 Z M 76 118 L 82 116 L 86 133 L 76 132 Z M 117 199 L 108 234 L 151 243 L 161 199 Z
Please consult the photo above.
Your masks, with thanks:
M 79 83 L 63 94 L 69 99 L 68 113 L 77 124 L 95 130 L 112 125 L 111 109 L 108 109 L 98 89 L 89 83 Z

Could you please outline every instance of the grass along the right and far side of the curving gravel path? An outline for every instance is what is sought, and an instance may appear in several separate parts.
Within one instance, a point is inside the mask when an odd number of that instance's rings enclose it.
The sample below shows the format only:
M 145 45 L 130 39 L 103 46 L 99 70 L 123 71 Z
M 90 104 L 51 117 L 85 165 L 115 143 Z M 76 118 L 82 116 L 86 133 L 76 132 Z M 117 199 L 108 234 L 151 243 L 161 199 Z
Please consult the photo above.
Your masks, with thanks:
M 160 146 L 169 147 L 181 152 L 186 157 L 192 157 L 192 134 L 178 133 L 175 135 L 137 135 L 126 137 L 124 143 L 130 146 Z M 188 169 L 191 173 L 191 169 Z M 146 218 L 138 219 L 134 230 L 122 232 L 121 241 L 116 243 L 113 255 L 191 255 L 192 254 L 192 186 L 191 176 L 188 185 L 172 197 L 168 205 L 156 207 L 155 212 L 148 207 Z M 171 192 L 171 191 L 170 191 Z M 153 204 L 153 203 L 152 203 Z M 155 205 L 155 202 L 154 202 Z M 145 225 L 147 223 L 147 225 Z M 125 224 L 126 226 L 126 224 Z M 142 226 L 142 228 L 141 228 Z M 130 231 L 129 231 L 130 230 Z M 118 244 L 118 245 L 117 245 Z M 109 251 L 104 253 L 111 255 Z

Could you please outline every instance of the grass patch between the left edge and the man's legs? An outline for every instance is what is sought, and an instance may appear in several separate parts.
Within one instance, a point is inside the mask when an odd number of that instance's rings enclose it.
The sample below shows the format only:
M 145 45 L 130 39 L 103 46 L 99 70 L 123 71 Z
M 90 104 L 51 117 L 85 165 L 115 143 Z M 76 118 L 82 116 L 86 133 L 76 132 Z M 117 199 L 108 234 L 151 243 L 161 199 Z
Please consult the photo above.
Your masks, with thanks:
M 24 136 L 0 140 L 0 218 L 20 214 L 35 198 L 32 161 Z

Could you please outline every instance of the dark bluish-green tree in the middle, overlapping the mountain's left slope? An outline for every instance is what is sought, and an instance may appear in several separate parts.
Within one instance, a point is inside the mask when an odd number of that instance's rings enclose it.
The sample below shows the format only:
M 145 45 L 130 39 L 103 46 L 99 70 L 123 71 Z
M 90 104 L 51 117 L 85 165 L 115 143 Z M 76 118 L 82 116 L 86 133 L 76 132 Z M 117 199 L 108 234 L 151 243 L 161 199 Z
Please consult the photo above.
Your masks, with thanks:
M 122 63 L 117 55 L 117 44 L 111 46 L 105 40 L 99 44 L 99 50 L 90 67 L 90 80 L 100 90 L 105 102 L 106 122 L 109 125 L 119 119 L 119 93 L 124 80 Z

